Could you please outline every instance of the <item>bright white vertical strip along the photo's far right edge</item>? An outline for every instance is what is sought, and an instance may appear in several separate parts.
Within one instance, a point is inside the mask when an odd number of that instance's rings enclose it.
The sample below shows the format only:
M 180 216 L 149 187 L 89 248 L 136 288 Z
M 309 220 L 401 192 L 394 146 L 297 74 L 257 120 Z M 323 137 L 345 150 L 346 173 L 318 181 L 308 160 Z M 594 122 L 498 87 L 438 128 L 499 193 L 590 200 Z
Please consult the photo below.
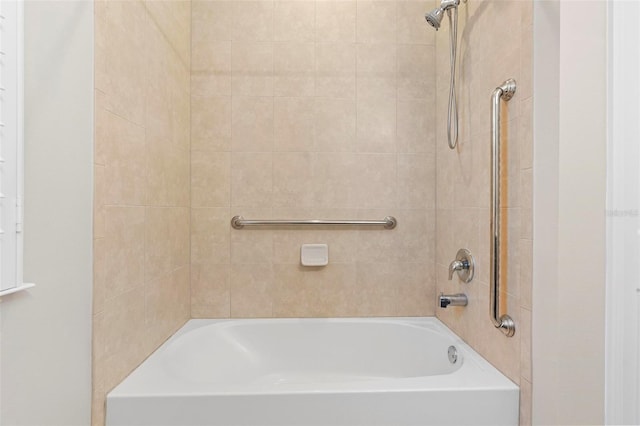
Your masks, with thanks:
M 640 3 L 608 3 L 607 424 L 640 424 Z

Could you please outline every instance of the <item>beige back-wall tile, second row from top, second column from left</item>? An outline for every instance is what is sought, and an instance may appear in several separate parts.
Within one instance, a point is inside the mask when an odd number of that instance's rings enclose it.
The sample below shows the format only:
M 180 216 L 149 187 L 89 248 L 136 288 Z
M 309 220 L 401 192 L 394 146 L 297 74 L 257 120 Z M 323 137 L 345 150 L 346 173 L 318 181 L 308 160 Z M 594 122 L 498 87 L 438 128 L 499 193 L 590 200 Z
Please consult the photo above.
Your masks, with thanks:
M 231 64 L 234 96 L 273 96 L 273 43 L 234 42 Z

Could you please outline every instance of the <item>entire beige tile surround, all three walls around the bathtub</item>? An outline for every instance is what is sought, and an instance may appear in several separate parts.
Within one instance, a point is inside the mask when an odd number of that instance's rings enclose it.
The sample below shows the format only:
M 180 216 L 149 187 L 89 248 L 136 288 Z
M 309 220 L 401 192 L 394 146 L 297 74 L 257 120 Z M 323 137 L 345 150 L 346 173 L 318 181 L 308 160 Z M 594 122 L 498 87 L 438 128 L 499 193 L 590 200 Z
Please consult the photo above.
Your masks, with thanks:
M 528 423 L 530 2 L 460 8 L 456 152 L 445 139 L 448 25 L 436 37 L 423 20 L 433 6 L 96 2 L 95 424 L 105 392 L 190 309 L 433 315 L 436 280 L 469 294 L 466 309 L 437 314 L 520 384 Z M 519 82 L 505 137 L 513 339 L 488 319 L 489 96 L 508 77 Z M 236 214 L 399 225 L 236 231 Z M 300 267 L 303 243 L 328 243 L 329 266 Z M 460 247 L 478 261 L 469 286 L 446 280 Z

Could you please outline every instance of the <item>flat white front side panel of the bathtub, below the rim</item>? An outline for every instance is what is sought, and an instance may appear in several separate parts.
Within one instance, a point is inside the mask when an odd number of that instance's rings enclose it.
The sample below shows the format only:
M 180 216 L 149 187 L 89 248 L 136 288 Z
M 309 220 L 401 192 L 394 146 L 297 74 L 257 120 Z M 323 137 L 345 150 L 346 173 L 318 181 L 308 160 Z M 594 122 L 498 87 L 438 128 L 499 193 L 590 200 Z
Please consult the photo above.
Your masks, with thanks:
M 107 426 L 517 425 L 518 391 L 109 397 L 107 412 Z

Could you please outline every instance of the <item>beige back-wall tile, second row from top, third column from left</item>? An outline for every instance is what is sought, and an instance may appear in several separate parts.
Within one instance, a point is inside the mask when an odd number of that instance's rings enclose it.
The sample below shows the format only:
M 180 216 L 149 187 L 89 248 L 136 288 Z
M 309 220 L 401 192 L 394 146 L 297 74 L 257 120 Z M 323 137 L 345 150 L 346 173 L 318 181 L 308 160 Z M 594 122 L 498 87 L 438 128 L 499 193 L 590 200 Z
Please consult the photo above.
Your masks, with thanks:
M 274 43 L 275 96 L 315 94 L 315 53 L 314 43 Z

